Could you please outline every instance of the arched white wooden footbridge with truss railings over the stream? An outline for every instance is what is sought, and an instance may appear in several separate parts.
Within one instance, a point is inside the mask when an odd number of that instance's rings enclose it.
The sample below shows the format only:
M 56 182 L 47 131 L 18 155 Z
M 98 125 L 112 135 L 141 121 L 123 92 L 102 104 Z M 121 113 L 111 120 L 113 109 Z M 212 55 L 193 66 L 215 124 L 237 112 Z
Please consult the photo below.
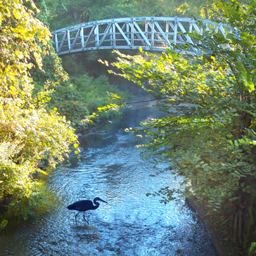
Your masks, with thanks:
M 52 32 L 52 41 L 58 55 L 98 49 L 139 49 L 163 51 L 173 44 L 197 44 L 187 33 L 203 35 L 212 30 L 226 35 L 227 25 L 184 17 L 132 17 L 98 20 L 69 26 Z M 199 42 L 200 43 L 200 42 Z

